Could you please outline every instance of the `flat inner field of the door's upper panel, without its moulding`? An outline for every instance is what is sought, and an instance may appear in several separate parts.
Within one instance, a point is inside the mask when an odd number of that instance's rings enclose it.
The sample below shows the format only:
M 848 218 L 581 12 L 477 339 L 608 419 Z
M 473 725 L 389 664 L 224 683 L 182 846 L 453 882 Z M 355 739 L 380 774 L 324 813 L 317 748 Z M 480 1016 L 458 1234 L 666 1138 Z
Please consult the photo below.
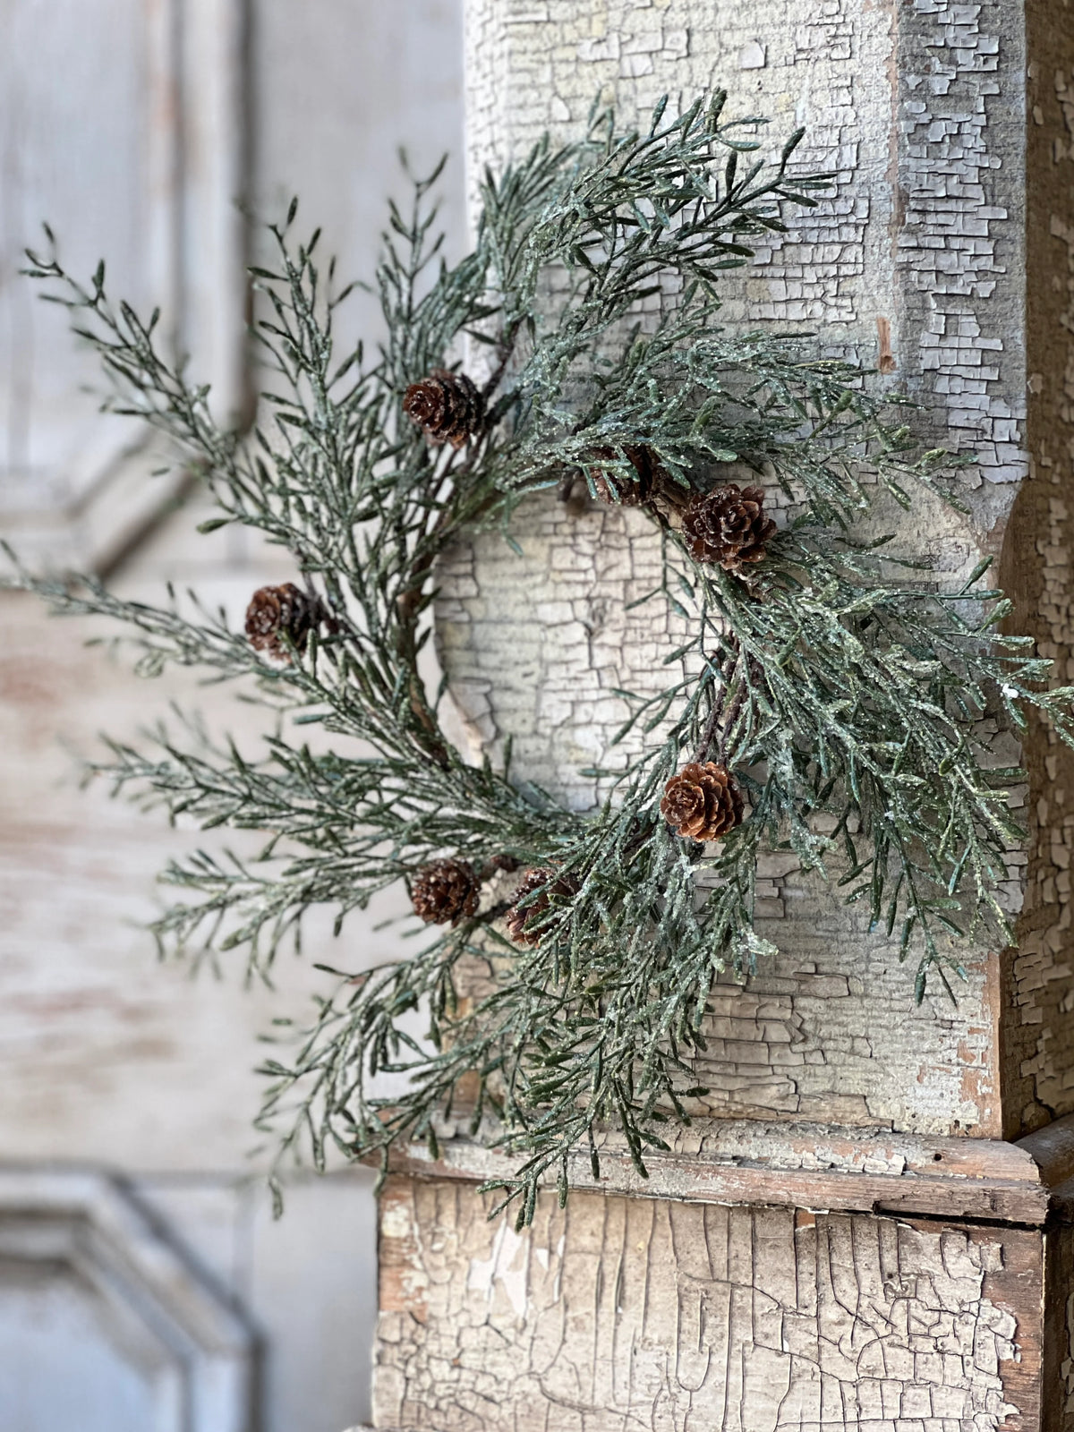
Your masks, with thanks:
M 36 302 L 19 274 L 24 248 L 44 243 L 42 223 L 80 272 L 107 253 L 139 306 L 172 296 L 160 242 L 173 192 L 155 173 L 150 136 L 173 106 L 153 93 L 159 60 L 147 64 L 160 37 L 155 10 L 142 0 L 0 4 L 0 491 L 9 510 L 72 501 L 129 442 L 126 425 L 100 421 L 79 392 L 86 358 L 66 337 L 63 311 Z

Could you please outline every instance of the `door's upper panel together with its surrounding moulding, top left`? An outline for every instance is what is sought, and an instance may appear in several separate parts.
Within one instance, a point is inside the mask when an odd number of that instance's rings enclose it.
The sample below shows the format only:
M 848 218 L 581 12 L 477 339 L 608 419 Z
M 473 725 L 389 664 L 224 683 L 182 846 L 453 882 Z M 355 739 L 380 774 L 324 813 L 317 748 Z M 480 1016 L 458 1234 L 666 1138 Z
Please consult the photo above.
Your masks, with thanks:
M 99 414 L 84 391 L 99 394 L 99 365 L 20 276 L 23 251 L 47 222 L 74 274 L 107 256 L 113 298 L 159 305 L 169 347 L 238 412 L 242 7 L 0 0 L 0 521 L 53 563 L 105 566 L 147 517 L 123 468 L 143 434 Z M 172 497 L 155 484 L 150 513 Z

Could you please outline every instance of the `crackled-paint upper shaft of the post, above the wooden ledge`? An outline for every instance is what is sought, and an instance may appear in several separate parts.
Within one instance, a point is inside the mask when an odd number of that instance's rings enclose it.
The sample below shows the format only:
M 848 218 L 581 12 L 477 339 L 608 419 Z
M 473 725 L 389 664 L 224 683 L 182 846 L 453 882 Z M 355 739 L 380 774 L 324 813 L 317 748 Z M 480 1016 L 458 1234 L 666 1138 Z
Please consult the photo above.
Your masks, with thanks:
M 1034 332 L 1027 338 L 1027 242 L 1037 231 L 1048 236 L 1054 279 L 1041 321 L 1058 332 L 1065 306 L 1068 335 L 1074 213 L 1051 205 L 1027 238 L 1020 7 L 822 0 L 789 10 L 783 0 L 468 0 L 471 170 L 521 152 L 544 129 L 574 135 L 597 90 L 644 123 L 662 93 L 676 103 L 722 83 L 730 110 L 772 117 L 773 140 L 805 123 L 808 147 L 796 162 L 831 170 L 833 195 L 793 215 L 789 235 L 727 276 L 726 319 L 818 325 L 832 351 L 884 358 L 891 381 L 922 398 L 921 421 L 937 438 L 977 457 L 969 514 L 925 504 L 898 523 L 899 537 L 951 580 L 1005 540 L 1007 553 L 1032 554 L 1031 570 L 1008 580 L 1022 599 L 1018 624 L 1035 624 L 1042 650 L 1074 670 L 1060 530 L 1068 514 L 1054 491 L 1068 481 L 1070 430 L 1063 441 L 1053 431 L 1031 464 L 1025 379 L 1040 345 Z M 1051 53 L 1070 40 L 1030 34 L 1028 43 Z M 1050 147 L 1040 165 L 1053 170 L 1070 168 L 1074 149 L 1068 73 L 1074 59 L 1055 76 L 1041 67 L 1037 127 Z M 1044 179 L 1054 190 L 1054 176 Z M 1047 410 L 1068 424 L 1068 347 L 1041 368 L 1065 372 L 1065 387 L 1040 394 L 1038 421 Z M 1041 474 L 1053 491 L 1044 507 L 1034 500 L 1025 534 L 1020 511 Z M 782 500 L 772 493 L 772 503 Z M 521 561 L 483 537 L 444 564 L 441 656 L 474 743 L 495 753 L 510 733 L 516 775 L 584 809 L 600 789 L 579 770 L 614 760 L 609 737 L 624 706 L 613 689 L 662 689 L 660 663 L 682 623 L 660 599 L 623 610 L 657 571 L 657 537 L 637 513 L 571 518 L 550 497 L 536 498 L 520 510 L 516 537 Z M 720 990 L 710 1111 L 1011 1136 L 1074 1108 L 1065 908 L 1074 815 L 1061 809 L 1064 753 L 1047 733 L 1034 740 L 1037 793 L 1024 815 L 1035 845 L 1011 853 L 1001 894 L 1017 912 L 1028 889 L 1018 952 L 972 957 L 957 1010 L 947 1001 L 915 1010 L 892 944 L 770 856 L 758 916 L 783 952 L 745 988 Z M 1017 759 L 1014 745 L 1010 755 Z

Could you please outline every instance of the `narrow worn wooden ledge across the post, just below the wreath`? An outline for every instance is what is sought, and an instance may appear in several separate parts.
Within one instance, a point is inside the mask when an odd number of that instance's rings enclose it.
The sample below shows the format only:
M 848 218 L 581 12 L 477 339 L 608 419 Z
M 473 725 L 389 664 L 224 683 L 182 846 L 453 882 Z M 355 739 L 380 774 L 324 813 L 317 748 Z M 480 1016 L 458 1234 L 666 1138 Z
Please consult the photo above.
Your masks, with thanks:
M 440 1157 L 421 1146 L 397 1151 L 391 1169 L 411 1177 L 483 1183 L 510 1179 L 517 1160 L 445 1131 Z M 1074 1116 L 1018 1143 L 929 1138 L 831 1124 L 706 1120 L 669 1137 L 669 1153 L 646 1156 L 649 1179 L 624 1141 L 599 1143 L 600 1179 L 589 1156 L 570 1161 L 576 1189 L 687 1203 L 753 1203 L 813 1211 L 891 1213 L 1041 1226 L 1050 1213 L 1074 1219 Z M 551 1181 L 551 1180 L 550 1180 Z M 1064 1184 L 1063 1193 L 1060 1186 Z

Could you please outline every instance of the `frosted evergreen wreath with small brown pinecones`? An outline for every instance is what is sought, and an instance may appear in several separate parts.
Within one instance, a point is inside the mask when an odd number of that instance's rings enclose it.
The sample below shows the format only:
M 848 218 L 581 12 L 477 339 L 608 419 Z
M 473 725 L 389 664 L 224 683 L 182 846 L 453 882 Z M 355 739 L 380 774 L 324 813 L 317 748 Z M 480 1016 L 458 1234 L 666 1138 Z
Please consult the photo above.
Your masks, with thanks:
M 83 286 L 54 245 L 30 255 L 116 381 L 112 407 L 178 440 L 203 474 L 219 517 L 202 530 L 245 524 L 295 558 L 295 581 L 253 594 L 245 633 L 185 616 L 175 594 L 153 609 L 92 579 L 17 577 L 57 611 L 132 626 L 145 674 L 178 663 L 243 679 L 284 717 L 259 760 L 190 722 L 152 748 L 110 743 L 95 768 L 172 816 L 268 833 L 253 861 L 169 865 L 163 879 L 193 898 L 155 924 L 159 945 L 245 947 L 268 972 L 312 905 L 335 905 L 339 932 L 397 881 L 435 927 L 400 962 L 331 971 L 337 992 L 266 1061 L 261 1123 L 281 1156 L 308 1144 L 322 1167 L 335 1146 L 387 1167 L 394 1143 L 420 1138 L 435 1153 L 454 1104 L 518 1158 L 493 1187 L 501 1207 L 518 1200 L 520 1223 L 546 1177 L 566 1197 L 579 1146 L 599 1171 L 609 1127 L 644 1173 L 660 1126 L 686 1121 L 683 1101 L 703 1093 L 692 1054 L 715 978 L 773 952 L 752 924 L 762 848 L 831 866 L 875 925 L 899 927 L 918 998 L 929 972 L 949 988 L 967 939 L 1011 937 L 997 885 L 1024 838 L 1007 795 L 1025 776 L 995 748 L 1025 707 L 1074 743 L 1074 690 L 1048 690 L 1030 639 L 1001 634 L 1010 603 L 981 586 L 987 561 L 942 590 L 928 563 L 855 537 L 869 491 L 908 507 L 951 461 L 919 451 L 908 400 L 818 357 L 808 334 L 720 328 L 722 272 L 826 183 L 792 176 L 800 130 L 775 160 L 743 162 L 763 120 L 726 122 L 725 99 L 672 120 L 662 102 L 647 133 L 594 113 L 580 142 L 546 137 L 485 173 L 474 251 L 454 266 L 438 256 L 437 173 L 417 180 L 410 212 L 391 208 L 377 269 L 388 337 L 372 359 L 361 345 L 337 355 L 348 289 L 332 265 L 326 284 L 318 274 L 316 235 L 292 239 L 292 205 L 271 231 L 278 266 L 252 269 L 275 377 L 272 420 L 248 435 L 213 421 L 208 391 L 162 351 L 156 314 L 110 304 L 103 265 Z M 461 371 L 463 339 L 487 347 L 487 378 Z M 758 485 L 727 481 L 729 463 Z M 418 653 L 445 544 L 483 527 L 510 543 L 523 495 L 583 477 L 593 501 L 659 527 L 653 599 L 692 634 L 667 653 L 682 676 L 659 697 L 621 693 L 616 739 L 659 739 L 604 772 L 599 809 L 573 813 L 513 780 L 510 752 L 494 769 L 453 748 Z M 782 530 L 765 483 L 792 500 Z M 308 722 L 337 749 L 304 745 Z M 470 957 L 491 978 L 463 1000 Z M 405 1073 L 405 1091 L 378 1094 L 384 1071 Z

